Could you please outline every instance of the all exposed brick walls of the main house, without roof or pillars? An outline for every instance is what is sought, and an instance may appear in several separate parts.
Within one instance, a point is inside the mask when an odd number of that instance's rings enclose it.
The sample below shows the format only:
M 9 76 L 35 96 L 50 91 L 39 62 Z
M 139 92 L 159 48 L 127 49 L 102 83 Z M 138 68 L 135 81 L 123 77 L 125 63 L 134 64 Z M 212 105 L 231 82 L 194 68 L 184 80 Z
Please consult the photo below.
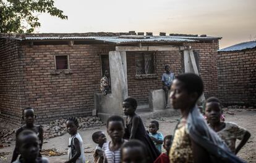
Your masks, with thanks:
M 20 124 L 22 109 L 35 108 L 39 123 L 59 117 L 89 116 L 94 108 L 93 95 L 100 92 L 100 54 L 108 54 L 108 44 L 34 45 L 14 39 L 1 39 L 0 102 L 1 117 Z M 218 91 L 216 50 L 218 42 L 188 44 L 198 50 L 200 75 L 205 95 Z M 69 55 L 70 70 L 55 71 L 54 55 Z M 164 65 L 175 75 L 182 73 L 182 52 L 156 52 L 156 74 L 151 78 L 135 76 L 135 54 L 127 52 L 128 94 L 140 104 L 148 103 L 150 90 L 161 89 Z

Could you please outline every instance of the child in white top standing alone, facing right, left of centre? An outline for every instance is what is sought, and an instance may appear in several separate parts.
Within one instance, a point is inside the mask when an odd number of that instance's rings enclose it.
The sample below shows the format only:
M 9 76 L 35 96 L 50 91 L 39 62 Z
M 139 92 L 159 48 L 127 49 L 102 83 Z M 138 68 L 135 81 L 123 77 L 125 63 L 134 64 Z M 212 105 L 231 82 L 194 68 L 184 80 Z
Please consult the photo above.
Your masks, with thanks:
M 71 135 L 69 138 L 69 150 L 68 157 L 69 161 L 65 163 L 85 163 L 85 155 L 83 152 L 83 140 L 77 129 L 79 127 L 79 122 L 76 117 L 69 117 L 66 122 L 67 132 Z

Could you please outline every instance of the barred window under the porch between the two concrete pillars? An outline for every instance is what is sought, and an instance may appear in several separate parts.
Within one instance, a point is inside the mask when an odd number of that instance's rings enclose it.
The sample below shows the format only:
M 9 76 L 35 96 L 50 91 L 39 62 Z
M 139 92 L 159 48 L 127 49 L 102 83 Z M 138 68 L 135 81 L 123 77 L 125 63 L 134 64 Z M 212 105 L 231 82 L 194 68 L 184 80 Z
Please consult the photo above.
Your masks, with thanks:
M 136 74 L 155 74 L 154 52 L 137 52 L 135 54 Z

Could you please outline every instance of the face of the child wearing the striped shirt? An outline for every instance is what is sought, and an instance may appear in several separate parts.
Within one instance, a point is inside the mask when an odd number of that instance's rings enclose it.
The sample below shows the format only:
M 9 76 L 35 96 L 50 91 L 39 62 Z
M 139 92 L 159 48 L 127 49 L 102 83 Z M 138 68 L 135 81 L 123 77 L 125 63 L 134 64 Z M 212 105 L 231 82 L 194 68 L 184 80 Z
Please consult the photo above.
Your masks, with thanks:
M 111 140 L 119 141 L 124 136 L 124 124 L 121 121 L 110 121 L 107 132 Z

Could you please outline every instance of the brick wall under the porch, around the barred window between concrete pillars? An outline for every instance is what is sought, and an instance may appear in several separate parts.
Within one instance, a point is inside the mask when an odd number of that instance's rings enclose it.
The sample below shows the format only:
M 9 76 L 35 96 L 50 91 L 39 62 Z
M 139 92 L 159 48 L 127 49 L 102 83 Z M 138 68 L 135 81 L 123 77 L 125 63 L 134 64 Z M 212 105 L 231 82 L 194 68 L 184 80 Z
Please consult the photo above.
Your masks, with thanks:
M 139 104 L 148 103 L 150 90 L 162 89 L 161 76 L 164 73 L 164 65 L 170 65 L 171 71 L 177 75 L 181 73 L 181 52 L 156 52 L 156 75 L 137 79 L 135 70 L 135 53 L 127 52 L 127 82 L 128 95 L 137 99 Z

